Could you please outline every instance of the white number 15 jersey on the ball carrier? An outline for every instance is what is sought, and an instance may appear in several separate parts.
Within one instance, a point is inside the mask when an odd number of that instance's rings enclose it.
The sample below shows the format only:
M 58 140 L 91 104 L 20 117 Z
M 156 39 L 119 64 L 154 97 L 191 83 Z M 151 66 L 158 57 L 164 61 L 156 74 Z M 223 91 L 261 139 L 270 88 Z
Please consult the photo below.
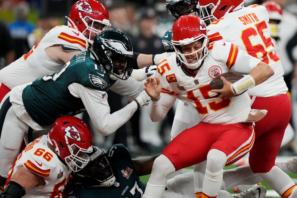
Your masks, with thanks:
M 191 74 L 187 67 L 178 65 L 174 54 L 162 60 L 157 67 L 156 76 L 161 80 L 162 93 L 176 95 L 178 99 L 194 106 L 204 123 L 244 122 L 251 110 L 248 94 L 220 99 L 217 93 L 210 92 L 209 86 L 216 76 L 232 71 L 241 55 L 242 52 L 232 43 L 213 42 L 198 73 Z

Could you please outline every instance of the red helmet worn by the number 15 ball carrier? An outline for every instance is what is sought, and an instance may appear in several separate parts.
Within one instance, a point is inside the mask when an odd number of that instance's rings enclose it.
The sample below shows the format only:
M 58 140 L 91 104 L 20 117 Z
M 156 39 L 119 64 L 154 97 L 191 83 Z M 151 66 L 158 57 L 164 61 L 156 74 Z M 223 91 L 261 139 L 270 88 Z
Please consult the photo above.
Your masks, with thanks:
M 188 45 L 195 41 L 201 41 L 202 47 L 190 54 L 183 54 L 181 51 L 182 45 Z M 204 21 L 196 15 L 183 15 L 180 16 L 173 24 L 172 27 L 172 40 L 171 43 L 174 46 L 176 54 L 178 54 L 179 60 L 183 62 L 189 69 L 198 68 L 205 56 L 208 54 L 208 37 L 206 31 L 206 24 Z M 197 52 L 201 51 L 200 57 Z M 197 61 L 188 63 L 185 56 L 195 54 Z

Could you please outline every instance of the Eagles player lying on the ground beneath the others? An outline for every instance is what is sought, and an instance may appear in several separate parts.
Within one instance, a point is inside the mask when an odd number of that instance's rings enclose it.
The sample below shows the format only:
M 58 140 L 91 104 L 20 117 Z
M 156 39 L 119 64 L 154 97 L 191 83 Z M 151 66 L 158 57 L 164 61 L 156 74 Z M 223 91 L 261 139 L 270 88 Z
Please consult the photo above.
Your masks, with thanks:
M 66 192 L 70 192 L 68 198 L 140 198 L 146 183 L 141 182 L 139 177 L 151 173 L 153 161 L 159 156 L 158 154 L 131 159 L 129 150 L 123 144 L 112 145 L 107 153 L 93 147 L 93 152 L 88 165 L 72 173 L 73 177 L 65 189 Z M 187 172 L 168 180 L 163 198 L 195 197 L 193 179 L 193 172 Z M 265 187 L 258 186 L 257 188 L 261 190 L 260 198 L 264 198 Z M 228 192 L 221 192 L 221 197 L 226 198 L 226 193 Z M 249 189 L 235 197 L 248 198 L 253 194 L 259 195 L 256 188 Z

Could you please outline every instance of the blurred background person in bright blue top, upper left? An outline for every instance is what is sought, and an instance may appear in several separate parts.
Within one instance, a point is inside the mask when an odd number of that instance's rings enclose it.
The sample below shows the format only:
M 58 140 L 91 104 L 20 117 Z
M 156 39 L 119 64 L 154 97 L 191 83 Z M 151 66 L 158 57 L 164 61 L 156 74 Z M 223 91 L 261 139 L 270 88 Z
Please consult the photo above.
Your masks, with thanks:
M 28 22 L 30 6 L 28 2 L 21 1 L 13 9 L 15 20 L 8 26 L 13 39 L 12 46 L 15 50 L 16 58 L 26 54 L 30 48 L 27 37 L 33 31 L 34 25 Z

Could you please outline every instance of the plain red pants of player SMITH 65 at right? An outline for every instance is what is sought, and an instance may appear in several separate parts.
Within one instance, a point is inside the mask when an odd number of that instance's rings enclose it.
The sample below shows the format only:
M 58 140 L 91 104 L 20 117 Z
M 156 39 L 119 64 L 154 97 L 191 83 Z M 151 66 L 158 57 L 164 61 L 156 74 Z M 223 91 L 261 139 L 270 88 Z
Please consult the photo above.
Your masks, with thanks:
M 264 118 L 256 122 L 256 139 L 250 151 L 249 164 L 254 173 L 266 173 L 275 165 L 285 129 L 291 118 L 291 101 L 287 94 L 256 97 L 252 109 L 266 109 Z

